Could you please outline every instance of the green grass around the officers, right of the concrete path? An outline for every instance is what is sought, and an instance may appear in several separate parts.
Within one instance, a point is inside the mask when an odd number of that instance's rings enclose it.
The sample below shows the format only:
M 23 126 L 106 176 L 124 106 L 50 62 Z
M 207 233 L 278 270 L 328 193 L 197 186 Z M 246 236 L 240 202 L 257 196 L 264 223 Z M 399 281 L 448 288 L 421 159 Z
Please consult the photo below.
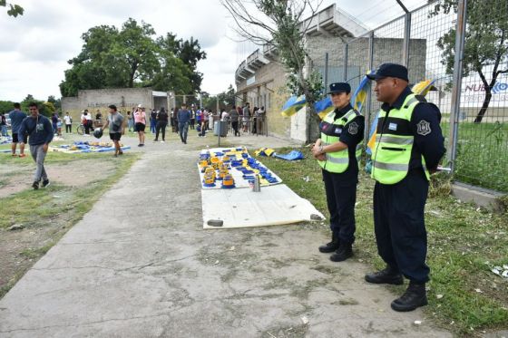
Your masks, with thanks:
M 286 152 L 288 149 L 278 150 Z M 298 195 L 328 215 L 318 164 L 308 149 L 306 159 L 288 162 L 261 158 Z M 306 182 L 304 178 L 310 180 Z M 435 178 L 433 178 L 435 179 Z M 438 178 L 439 179 L 439 178 Z M 442 178 L 441 178 L 442 179 Z M 357 192 L 357 258 L 375 268 L 384 266 L 376 253 L 372 215 L 374 182 L 363 170 Z M 445 187 L 445 188 L 442 188 Z M 431 267 L 429 305 L 425 314 L 459 335 L 508 328 L 508 281 L 493 275 L 490 266 L 508 264 L 508 215 L 496 215 L 459 203 L 435 185 L 425 208 L 428 232 L 427 263 Z M 404 287 L 392 287 L 400 295 Z M 482 293 L 477 293 L 480 289 Z M 437 295 L 443 295 L 437 299 Z

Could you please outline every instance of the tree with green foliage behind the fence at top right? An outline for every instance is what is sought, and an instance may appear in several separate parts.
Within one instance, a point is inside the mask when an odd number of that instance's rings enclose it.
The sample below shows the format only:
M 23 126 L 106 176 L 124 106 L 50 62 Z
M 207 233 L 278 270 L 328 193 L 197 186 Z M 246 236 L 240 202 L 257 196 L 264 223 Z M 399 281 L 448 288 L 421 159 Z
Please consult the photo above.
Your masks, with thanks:
M 458 0 L 444 0 L 435 4 L 432 15 L 456 13 Z M 480 123 L 493 96 L 493 87 L 500 74 L 508 72 L 508 5 L 506 0 L 468 0 L 464 38 L 464 76 L 478 73 L 484 83 L 485 97 L 475 123 Z M 454 72 L 455 27 L 438 40 L 443 51 L 442 63 L 446 72 Z

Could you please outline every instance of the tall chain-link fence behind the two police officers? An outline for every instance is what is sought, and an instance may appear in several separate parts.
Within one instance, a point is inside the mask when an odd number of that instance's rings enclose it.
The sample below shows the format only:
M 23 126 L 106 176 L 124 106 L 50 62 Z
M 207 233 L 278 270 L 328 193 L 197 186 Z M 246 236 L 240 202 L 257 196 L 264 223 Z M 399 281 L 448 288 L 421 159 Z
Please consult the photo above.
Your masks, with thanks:
M 355 89 L 381 63 L 405 64 L 410 86 L 434 81 L 425 98 L 441 110 L 444 165 L 453 169 L 454 178 L 508 192 L 506 1 L 424 5 L 345 43 L 343 63 L 328 65 L 324 72 Z M 380 107 L 372 90 L 363 111 L 366 137 Z

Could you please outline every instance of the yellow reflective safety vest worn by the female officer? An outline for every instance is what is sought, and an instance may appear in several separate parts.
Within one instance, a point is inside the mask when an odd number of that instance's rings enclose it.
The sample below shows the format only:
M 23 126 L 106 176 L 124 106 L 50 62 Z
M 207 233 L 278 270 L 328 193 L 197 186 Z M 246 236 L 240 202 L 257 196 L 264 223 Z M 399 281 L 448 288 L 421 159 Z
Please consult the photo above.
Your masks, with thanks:
M 354 109 L 347 111 L 341 118 L 335 119 L 335 111 L 331 111 L 321 121 L 321 144 L 327 146 L 337 143 L 340 139 L 342 130 L 345 130 L 347 123 L 353 121 L 360 113 Z M 360 160 L 362 155 L 361 144 L 357 145 L 357 161 Z M 347 149 L 336 152 L 327 152 L 326 160 L 318 160 L 319 166 L 329 172 L 342 173 L 347 170 L 349 166 L 349 152 Z

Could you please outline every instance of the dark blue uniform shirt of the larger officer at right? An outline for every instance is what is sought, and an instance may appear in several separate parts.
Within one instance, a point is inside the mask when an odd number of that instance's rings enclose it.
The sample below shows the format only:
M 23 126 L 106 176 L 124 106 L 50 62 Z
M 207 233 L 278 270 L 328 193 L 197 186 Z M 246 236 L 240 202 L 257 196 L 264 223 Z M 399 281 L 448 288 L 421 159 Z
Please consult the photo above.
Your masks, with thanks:
M 381 108 L 389 115 L 389 111 L 392 109 L 402 108 L 405 98 L 412 93 L 409 87 L 406 87 L 392 106 L 388 103 L 383 103 Z M 424 156 L 427 169 L 431 170 L 437 168 L 439 161 L 445 155 L 445 139 L 443 138 L 443 131 L 439 126 L 440 122 L 441 112 L 435 104 L 425 101 L 415 106 L 410 121 L 410 127 L 415 135 L 415 143 L 409 162 L 410 171 L 422 170 L 422 155 Z M 422 126 L 425 126 L 423 130 Z

